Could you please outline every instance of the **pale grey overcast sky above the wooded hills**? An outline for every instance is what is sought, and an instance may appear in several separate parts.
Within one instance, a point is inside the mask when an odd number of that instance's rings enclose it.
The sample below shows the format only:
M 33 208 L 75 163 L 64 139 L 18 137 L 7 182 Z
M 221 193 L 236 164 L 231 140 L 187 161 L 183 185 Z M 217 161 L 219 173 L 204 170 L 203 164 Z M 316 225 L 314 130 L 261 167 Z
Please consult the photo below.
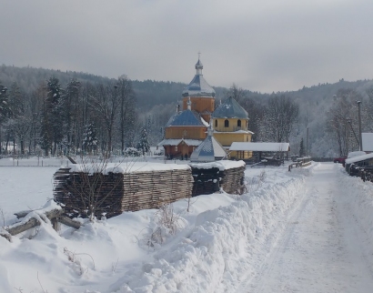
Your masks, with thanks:
M 372 0 L 0 0 L 0 64 L 262 93 L 373 77 Z

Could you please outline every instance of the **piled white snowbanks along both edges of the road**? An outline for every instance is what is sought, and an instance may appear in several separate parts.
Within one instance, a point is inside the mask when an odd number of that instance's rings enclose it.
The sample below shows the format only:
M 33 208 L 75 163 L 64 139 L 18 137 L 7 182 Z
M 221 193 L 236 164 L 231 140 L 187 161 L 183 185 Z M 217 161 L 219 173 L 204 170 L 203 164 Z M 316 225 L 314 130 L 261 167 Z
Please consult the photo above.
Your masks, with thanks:
M 292 172 L 250 168 L 244 196 L 220 193 L 179 200 L 174 210 L 180 228 L 172 235 L 161 227 L 162 243 L 152 239 L 159 225 L 156 210 L 150 209 L 86 222 L 78 230 L 64 227 L 59 233 L 42 225 L 12 243 L 0 237 L 0 292 L 38 292 L 41 285 L 63 293 L 233 292 L 277 245 L 287 216 L 304 197 L 306 177 L 318 166 Z M 366 241 L 372 243 L 373 185 L 340 170 L 340 182 L 355 203 L 351 212 L 362 218 Z M 7 203 L 3 194 L 0 200 Z

